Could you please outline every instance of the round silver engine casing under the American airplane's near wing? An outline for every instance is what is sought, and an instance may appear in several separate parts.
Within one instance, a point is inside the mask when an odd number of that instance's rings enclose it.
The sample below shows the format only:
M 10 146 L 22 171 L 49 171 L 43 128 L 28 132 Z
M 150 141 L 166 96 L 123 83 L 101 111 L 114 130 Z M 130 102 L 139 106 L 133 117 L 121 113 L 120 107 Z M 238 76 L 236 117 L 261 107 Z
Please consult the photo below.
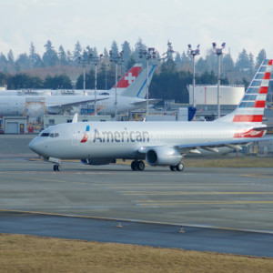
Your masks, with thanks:
M 147 151 L 146 161 L 151 166 L 176 166 L 181 155 L 174 147 L 154 147 Z

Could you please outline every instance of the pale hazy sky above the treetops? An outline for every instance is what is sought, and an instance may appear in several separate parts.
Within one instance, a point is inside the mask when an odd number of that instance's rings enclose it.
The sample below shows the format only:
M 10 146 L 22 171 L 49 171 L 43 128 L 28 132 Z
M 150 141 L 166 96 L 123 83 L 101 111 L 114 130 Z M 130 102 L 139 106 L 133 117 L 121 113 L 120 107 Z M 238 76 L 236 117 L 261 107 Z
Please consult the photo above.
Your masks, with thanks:
M 135 46 L 139 37 L 159 53 L 169 40 L 175 51 L 200 44 L 205 56 L 211 43 L 226 42 L 231 55 L 246 48 L 254 56 L 265 48 L 273 58 L 273 1 L 228 0 L 0 0 L 0 52 L 39 54 L 50 40 L 56 50 L 85 47 L 108 50 L 116 40 Z

